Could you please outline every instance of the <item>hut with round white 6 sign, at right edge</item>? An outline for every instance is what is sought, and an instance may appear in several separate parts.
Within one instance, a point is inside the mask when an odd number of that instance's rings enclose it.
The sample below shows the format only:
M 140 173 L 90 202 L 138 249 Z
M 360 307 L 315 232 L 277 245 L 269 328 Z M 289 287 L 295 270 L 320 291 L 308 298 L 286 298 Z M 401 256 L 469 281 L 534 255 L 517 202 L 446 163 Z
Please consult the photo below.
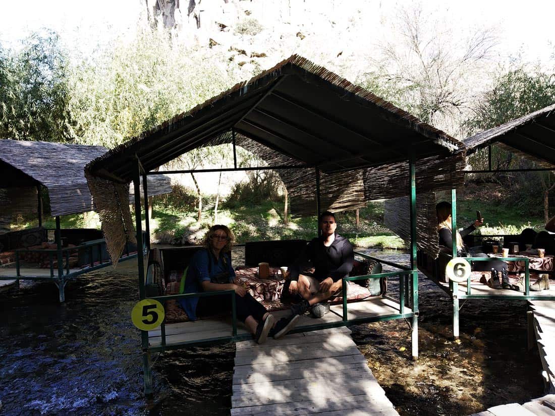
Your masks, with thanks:
M 464 140 L 467 155 L 479 150 L 487 151 L 487 166 L 485 169 L 462 170 L 464 175 L 477 173 L 516 173 L 526 171 L 555 170 L 555 105 L 548 106 L 531 114 L 514 119 L 495 128 L 481 131 Z M 509 151 L 532 161 L 533 167 L 527 169 L 493 169 L 492 147 Z M 457 230 L 457 190 L 453 184 L 451 191 L 452 230 Z M 555 282 L 549 280 L 547 290 L 532 291 L 531 285 L 543 274 L 552 275 L 553 256 L 540 258 L 536 247 L 527 250 L 526 244 L 533 242 L 529 235 L 468 235 L 465 242 L 470 247 L 478 247 L 486 253 L 488 258 L 497 258 L 507 263 L 509 282 L 522 283 L 522 290 L 493 288 L 485 284 L 490 277 L 487 272 L 472 271 L 462 282 L 450 280 L 446 276 L 447 263 L 456 253 L 456 236 L 452 234 L 452 251 L 441 251 L 438 246 L 435 195 L 430 193 L 424 197 L 426 202 L 418 210 L 418 224 L 422 224 L 422 239 L 430 243 L 418 251 L 418 270 L 431 278 L 451 298 L 453 303 L 453 337 L 459 336 L 459 311 L 466 300 L 503 299 L 503 300 L 554 300 Z M 394 211 L 400 204 L 400 199 L 390 201 L 387 211 Z M 406 204 L 406 201 L 405 201 Z M 386 216 L 387 220 L 387 216 Z M 386 225 L 397 233 L 407 234 L 406 221 L 391 218 Z M 465 224 L 466 225 L 466 224 Z M 404 231 L 403 231 L 404 230 Z M 498 245 L 499 252 L 493 253 L 493 245 Z M 502 248 L 508 250 L 508 257 L 501 254 Z M 467 257 L 471 264 L 487 261 L 488 258 Z M 462 300 L 462 303 L 460 301 Z

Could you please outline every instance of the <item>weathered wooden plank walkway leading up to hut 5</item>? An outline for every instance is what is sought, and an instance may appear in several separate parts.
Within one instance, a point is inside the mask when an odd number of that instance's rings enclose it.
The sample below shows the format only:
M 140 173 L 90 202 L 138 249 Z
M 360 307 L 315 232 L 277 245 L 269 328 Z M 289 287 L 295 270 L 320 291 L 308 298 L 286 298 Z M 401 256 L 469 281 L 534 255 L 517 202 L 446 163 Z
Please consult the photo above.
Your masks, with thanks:
M 237 342 L 231 416 L 398 416 L 350 333 Z

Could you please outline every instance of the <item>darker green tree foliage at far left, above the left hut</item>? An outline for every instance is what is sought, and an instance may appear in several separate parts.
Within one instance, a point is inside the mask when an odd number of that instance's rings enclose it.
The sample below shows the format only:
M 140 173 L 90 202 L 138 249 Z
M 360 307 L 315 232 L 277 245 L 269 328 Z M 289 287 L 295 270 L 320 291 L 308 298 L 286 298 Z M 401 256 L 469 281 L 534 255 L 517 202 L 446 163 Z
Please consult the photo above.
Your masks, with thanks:
M 33 33 L 19 52 L 0 45 L 0 139 L 73 139 L 68 57 L 52 31 Z

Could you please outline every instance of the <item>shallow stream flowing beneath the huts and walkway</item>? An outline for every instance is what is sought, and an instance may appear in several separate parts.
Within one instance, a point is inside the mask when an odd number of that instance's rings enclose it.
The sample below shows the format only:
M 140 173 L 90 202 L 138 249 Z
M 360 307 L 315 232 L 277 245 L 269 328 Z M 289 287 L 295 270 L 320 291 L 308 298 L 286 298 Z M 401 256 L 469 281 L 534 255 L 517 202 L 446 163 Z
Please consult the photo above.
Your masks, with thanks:
M 234 262 L 242 256 L 238 248 Z M 155 354 L 155 399 L 143 397 L 140 336 L 130 321 L 136 267 L 130 260 L 80 276 L 62 305 L 52 283 L 0 294 L 0 415 L 229 415 L 234 344 Z M 465 415 L 542 395 L 541 363 L 526 351 L 526 302 L 468 301 L 459 343 L 450 338 L 451 311 L 421 278 L 416 362 L 405 321 L 351 327 L 401 415 Z

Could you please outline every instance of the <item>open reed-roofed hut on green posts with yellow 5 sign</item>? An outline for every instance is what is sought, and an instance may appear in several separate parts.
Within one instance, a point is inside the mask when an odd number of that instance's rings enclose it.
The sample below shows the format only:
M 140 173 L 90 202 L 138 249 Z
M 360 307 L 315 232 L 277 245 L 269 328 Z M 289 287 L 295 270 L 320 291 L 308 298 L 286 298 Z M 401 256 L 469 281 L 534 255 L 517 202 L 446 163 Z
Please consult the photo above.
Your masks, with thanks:
M 369 268 L 366 268 L 361 271 L 362 275 L 344 277 L 344 292 L 351 282 L 376 280 L 377 284 L 373 282 L 368 287 L 380 287 L 377 295 L 350 303 L 344 298 L 331 306 L 331 313 L 322 318 L 301 316 L 293 332 L 406 319 L 411 328 L 411 354 L 416 358 L 416 190 L 452 186 L 461 181 L 461 174 L 455 168 L 464 163 L 462 144 L 371 92 L 294 55 L 87 165 L 85 171 L 99 214 L 108 220 L 103 221 L 103 230 L 110 255 L 121 252 L 125 241 L 136 238 L 138 245 L 142 243 L 140 214 L 143 209 L 148 211 L 148 206 L 142 207 L 138 197 L 141 179 L 144 187 L 145 179 L 151 175 L 214 171 L 155 169 L 190 150 L 225 143 L 233 145 L 234 165 L 220 170 L 275 170 L 289 191 L 291 212 L 295 215 L 352 210 L 365 206 L 370 200 L 407 197 L 408 206 L 403 216 L 411 221 L 410 266 L 361 256 L 369 266 L 370 261 L 379 261 L 391 266 L 393 271 L 369 274 Z M 259 156 L 267 166 L 239 167 L 236 146 Z M 433 169 L 438 165 L 442 169 Z M 120 201 L 127 200 L 130 181 L 135 189 L 134 231 L 132 227 L 122 226 L 129 224 L 131 219 L 128 211 L 120 209 Z M 148 195 L 146 188 L 144 193 Z M 145 232 L 149 256 L 138 261 L 141 300 L 158 300 L 166 305 L 167 310 L 169 301 L 180 298 L 233 295 L 233 291 L 219 291 L 153 296 L 150 289 L 158 287 L 152 281 L 154 270 L 165 276 L 170 272 L 168 259 L 183 256 L 174 251 L 178 249 L 170 249 L 167 254 L 161 250 L 161 262 L 159 260 L 159 266 L 153 266 L 148 221 Z M 314 232 L 316 235 L 316 224 Z M 282 261 L 290 255 L 289 251 L 282 252 L 275 242 L 258 244 L 251 246 L 253 250 L 245 248 L 248 251 L 245 253 L 246 267 L 262 258 L 273 263 L 275 257 Z M 291 243 L 292 246 L 296 244 Z M 179 272 L 175 274 L 179 276 Z M 390 283 L 398 281 L 395 296 L 390 296 L 385 286 L 382 289 L 385 278 Z M 276 312 L 278 317 L 281 313 L 289 312 Z M 195 322 L 162 322 L 158 328 L 141 334 L 146 394 L 152 393 L 150 354 L 153 352 L 252 338 L 246 328 L 236 322 L 234 314 Z

